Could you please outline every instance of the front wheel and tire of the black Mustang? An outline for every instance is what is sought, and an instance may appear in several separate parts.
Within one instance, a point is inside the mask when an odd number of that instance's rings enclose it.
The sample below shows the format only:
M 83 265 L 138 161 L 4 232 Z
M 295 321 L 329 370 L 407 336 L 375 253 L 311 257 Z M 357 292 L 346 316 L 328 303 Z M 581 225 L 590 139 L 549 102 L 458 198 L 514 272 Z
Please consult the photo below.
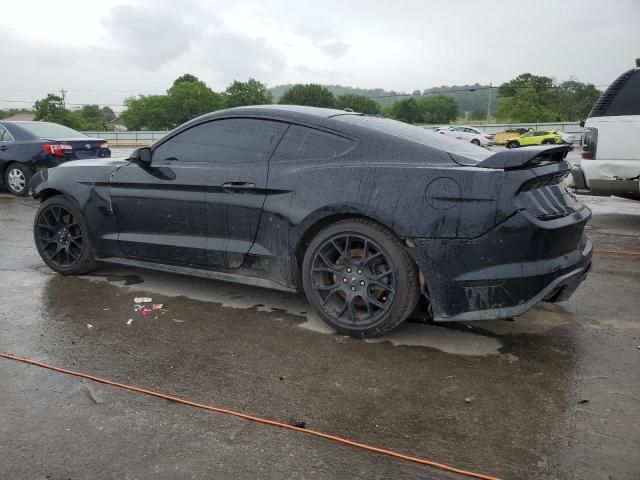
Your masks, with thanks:
M 84 215 L 62 195 L 40 204 L 33 221 L 33 239 L 44 263 L 62 275 L 81 275 L 98 265 L 91 253 Z

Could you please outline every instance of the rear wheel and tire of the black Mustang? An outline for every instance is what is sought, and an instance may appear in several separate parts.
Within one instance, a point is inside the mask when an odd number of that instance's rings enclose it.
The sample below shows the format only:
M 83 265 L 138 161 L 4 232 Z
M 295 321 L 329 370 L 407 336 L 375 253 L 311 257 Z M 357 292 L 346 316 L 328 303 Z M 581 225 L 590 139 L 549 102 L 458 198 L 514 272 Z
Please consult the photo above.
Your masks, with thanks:
M 364 219 L 320 231 L 302 262 L 307 300 L 338 332 L 373 337 L 402 323 L 420 299 L 418 269 L 398 240 Z

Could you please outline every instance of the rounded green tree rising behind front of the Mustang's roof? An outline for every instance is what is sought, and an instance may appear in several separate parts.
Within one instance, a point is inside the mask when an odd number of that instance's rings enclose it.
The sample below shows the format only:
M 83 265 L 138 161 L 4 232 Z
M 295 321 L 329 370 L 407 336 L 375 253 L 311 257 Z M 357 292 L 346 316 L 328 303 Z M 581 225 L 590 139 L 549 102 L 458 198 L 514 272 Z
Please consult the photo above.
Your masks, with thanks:
M 225 107 L 224 96 L 200 80 L 174 82 L 167 97 L 172 126 Z

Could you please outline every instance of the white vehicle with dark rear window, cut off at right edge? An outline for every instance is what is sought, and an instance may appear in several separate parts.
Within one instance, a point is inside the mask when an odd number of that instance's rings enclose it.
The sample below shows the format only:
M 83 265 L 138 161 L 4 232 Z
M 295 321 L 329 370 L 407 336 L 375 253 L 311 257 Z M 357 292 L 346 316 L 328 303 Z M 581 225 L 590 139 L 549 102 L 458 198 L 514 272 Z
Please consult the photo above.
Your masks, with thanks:
M 640 197 L 640 59 L 600 96 L 584 126 L 582 160 L 571 172 L 579 190 Z

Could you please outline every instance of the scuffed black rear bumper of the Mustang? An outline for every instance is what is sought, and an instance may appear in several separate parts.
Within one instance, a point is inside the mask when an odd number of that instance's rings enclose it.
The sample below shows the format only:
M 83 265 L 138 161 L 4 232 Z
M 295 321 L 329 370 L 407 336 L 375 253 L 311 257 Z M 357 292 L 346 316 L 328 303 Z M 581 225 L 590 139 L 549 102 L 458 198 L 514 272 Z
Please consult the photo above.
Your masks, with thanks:
M 541 222 L 519 211 L 471 240 L 414 239 L 436 321 L 515 317 L 567 300 L 591 268 L 589 209 Z

